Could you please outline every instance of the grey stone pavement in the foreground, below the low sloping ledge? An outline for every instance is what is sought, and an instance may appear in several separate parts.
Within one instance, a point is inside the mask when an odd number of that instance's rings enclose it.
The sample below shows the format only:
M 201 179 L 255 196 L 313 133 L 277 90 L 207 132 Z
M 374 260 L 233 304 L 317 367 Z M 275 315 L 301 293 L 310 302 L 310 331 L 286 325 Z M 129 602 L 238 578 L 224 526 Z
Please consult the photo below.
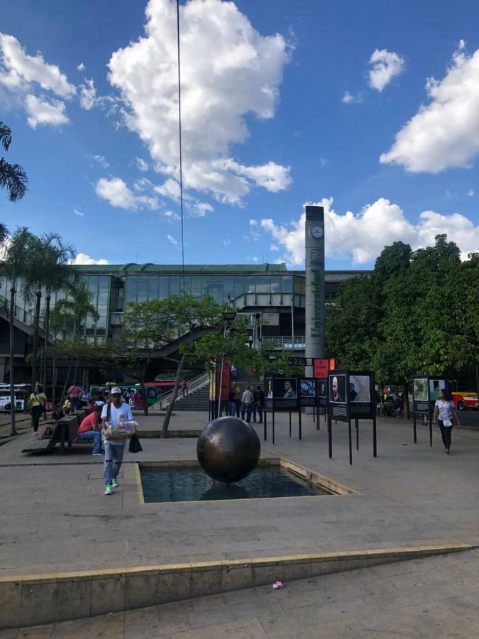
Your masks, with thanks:
M 0 639 L 479 637 L 479 550 L 202 597 Z

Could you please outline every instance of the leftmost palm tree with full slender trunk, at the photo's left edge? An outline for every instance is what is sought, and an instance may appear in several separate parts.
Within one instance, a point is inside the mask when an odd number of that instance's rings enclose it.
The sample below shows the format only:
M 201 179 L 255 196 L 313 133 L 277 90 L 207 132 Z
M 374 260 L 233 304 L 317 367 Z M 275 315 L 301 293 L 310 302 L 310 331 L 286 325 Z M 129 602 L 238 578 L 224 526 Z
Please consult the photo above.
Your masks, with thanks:
M 24 226 L 15 231 L 11 238 L 4 240 L 2 244 L 3 261 L 0 263 L 1 277 L 9 280 L 10 283 L 10 405 L 11 405 L 11 432 L 10 435 L 17 435 L 15 428 L 15 377 L 13 366 L 14 336 L 15 336 L 15 300 L 18 281 L 28 272 L 28 259 L 31 256 L 31 249 L 36 241 L 30 231 Z

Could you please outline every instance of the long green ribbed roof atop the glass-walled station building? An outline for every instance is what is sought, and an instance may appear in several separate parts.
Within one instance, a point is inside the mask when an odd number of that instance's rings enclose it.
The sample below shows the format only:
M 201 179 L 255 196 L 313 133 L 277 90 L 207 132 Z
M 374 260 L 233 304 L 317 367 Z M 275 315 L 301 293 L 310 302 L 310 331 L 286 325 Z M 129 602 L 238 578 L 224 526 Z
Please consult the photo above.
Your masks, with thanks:
M 182 273 L 181 264 L 79 264 L 79 273 Z M 185 273 L 277 273 L 286 264 L 185 264 Z

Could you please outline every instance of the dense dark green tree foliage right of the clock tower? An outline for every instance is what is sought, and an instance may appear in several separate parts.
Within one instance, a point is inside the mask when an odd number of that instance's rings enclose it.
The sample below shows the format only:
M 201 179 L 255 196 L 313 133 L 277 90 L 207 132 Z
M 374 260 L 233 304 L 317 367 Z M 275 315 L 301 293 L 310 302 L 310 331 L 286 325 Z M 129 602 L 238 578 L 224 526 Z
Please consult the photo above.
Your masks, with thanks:
M 479 356 L 479 255 L 461 262 L 446 235 L 412 251 L 395 242 L 373 275 L 341 283 L 326 312 L 329 356 L 344 368 L 407 384 L 414 373 L 454 379 Z

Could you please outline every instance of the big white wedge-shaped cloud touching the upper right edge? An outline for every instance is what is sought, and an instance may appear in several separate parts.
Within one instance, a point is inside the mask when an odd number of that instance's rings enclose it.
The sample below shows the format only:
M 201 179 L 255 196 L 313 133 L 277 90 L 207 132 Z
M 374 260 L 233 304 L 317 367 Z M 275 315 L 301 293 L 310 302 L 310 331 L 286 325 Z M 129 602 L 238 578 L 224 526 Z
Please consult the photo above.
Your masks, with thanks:
M 461 47 L 442 80 L 429 78 L 431 103 L 420 107 L 396 134 L 380 162 L 401 165 L 410 173 L 470 168 L 479 153 L 478 77 L 479 49 L 468 55 Z

